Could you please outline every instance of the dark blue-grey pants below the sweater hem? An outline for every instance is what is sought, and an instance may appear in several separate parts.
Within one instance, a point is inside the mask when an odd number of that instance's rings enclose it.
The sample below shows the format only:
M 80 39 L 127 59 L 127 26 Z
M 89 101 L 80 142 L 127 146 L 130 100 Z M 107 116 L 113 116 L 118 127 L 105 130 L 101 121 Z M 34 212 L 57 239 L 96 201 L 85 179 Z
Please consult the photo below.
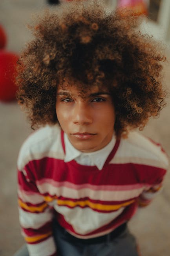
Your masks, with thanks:
M 64 228 L 55 223 L 54 238 L 60 256 L 139 256 L 135 238 L 128 228 L 114 239 L 107 235 L 106 241 L 95 244 L 84 244 L 81 239 L 70 239 Z M 29 256 L 24 245 L 14 256 Z

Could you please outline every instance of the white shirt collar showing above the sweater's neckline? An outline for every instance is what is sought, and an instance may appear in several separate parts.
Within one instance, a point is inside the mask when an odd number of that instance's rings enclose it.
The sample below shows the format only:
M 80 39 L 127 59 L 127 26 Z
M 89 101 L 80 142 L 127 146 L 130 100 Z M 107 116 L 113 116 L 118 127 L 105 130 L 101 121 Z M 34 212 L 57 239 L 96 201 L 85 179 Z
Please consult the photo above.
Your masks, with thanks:
M 66 156 L 64 161 L 69 162 L 71 160 L 75 160 L 81 165 L 96 165 L 99 170 L 102 170 L 106 159 L 115 145 L 115 142 L 116 138 L 115 135 L 113 135 L 112 140 L 104 148 L 94 152 L 84 153 L 73 147 L 68 136 L 64 133 L 64 143 L 66 147 Z

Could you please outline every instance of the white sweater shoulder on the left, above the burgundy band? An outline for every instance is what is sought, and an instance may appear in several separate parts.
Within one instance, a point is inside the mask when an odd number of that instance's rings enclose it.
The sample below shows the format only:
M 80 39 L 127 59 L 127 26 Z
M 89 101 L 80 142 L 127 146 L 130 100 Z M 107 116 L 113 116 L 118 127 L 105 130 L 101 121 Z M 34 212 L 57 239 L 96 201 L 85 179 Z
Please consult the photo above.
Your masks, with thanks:
M 44 157 L 64 158 L 60 134 L 58 125 L 47 125 L 29 135 L 18 154 L 18 169 L 22 170 L 29 161 Z

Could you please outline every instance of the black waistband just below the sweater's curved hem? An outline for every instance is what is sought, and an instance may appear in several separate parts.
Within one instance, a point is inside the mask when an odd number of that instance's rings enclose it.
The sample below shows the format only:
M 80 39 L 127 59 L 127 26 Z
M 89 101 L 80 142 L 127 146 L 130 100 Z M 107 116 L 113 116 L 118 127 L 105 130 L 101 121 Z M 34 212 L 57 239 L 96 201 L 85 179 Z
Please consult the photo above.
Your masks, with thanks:
M 104 242 L 113 240 L 114 238 L 120 236 L 121 233 L 124 232 L 126 227 L 127 227 L 127 223 L 123 223 L 119 227 L 115 228 L 112 232 L 110 232 L 104 236 L 88 238 L 88 239 L 77 238 L 75 236 L 72 236 L 68 232 L 65 233 L 65 236 L 66 236 L 66 239 L 72 243 L 82 243 L 82 244 L 91 245 L 91 244 L 104 243 Z

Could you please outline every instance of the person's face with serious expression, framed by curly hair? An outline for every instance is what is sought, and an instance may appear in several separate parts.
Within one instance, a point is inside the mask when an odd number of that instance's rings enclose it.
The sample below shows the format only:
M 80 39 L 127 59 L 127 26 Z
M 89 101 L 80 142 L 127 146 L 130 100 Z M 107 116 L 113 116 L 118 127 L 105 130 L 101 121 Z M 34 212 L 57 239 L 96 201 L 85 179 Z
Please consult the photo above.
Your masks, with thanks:
M 82 95 L 76 86 L 59 86 L 56 113 L 69 141 L 82 152 L 99 150 L 112 139 L 115 109 L 107 89 L 92 87 Z

